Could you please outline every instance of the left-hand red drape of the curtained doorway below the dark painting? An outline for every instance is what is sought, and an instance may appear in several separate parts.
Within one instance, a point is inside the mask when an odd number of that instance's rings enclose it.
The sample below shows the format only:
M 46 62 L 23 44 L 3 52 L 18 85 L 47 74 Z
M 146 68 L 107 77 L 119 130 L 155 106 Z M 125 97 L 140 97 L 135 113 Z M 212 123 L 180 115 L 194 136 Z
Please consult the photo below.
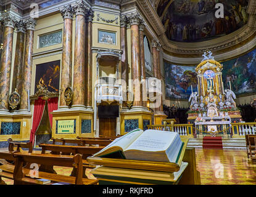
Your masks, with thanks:
M 33 126 L 30 133 L 30 142 L 34 145 L 35 142 L 35 134 L 38 126 L 41 122 L 44 113 L 44 105 L 46 100 L 42 98 L 38 98 L 35 100 L 35 107 L 34 107 L 34 115 L 33 115 Z

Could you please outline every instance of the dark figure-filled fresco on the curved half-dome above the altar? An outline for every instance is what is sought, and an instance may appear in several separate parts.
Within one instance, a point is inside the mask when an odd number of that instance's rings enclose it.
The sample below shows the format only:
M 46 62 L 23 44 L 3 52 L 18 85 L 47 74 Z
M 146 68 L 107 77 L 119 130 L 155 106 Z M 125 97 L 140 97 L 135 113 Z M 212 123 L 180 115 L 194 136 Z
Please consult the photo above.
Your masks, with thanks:
M 232 33 L 248 21 L 249 0 L 160 0 L 157 14 L 171 41 L 200 42 Z M 216 18 L 217 3 L 224 17 Z

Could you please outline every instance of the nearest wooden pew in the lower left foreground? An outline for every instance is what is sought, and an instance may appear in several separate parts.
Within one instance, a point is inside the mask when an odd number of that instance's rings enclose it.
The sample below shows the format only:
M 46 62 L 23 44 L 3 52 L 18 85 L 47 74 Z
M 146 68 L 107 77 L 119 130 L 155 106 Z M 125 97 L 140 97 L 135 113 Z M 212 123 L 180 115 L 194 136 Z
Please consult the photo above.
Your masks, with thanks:
M 51 174 L 48 172 L 38 171 L 38 175 L 35 177 L 38 179 L 49 179 L 52 182 L 65 182 L 75 185 L 91 185 L 96 184 L 97 180 L 90 180 L 83 178 L 83 165 L 82 156 L 76 155 L 49 155 L 49 154 L 38 154 L 38 153 L 12 153 L 15 158 L 14 168 L 14 185 L 23 184 L 38 184 L 38 181 L 32 179 L 28 173 L 28 169 L 23 168 L 24 163 L 36 163 L 36 164 L 51 164 L 52 166 L 63 166 L 63 167 L 75 167 L 76 176 L 70 177 L 67 175 Z M 25 171 L 24 171 L 25 170 Z M 34 176 L 34 175 L 33 175 Z

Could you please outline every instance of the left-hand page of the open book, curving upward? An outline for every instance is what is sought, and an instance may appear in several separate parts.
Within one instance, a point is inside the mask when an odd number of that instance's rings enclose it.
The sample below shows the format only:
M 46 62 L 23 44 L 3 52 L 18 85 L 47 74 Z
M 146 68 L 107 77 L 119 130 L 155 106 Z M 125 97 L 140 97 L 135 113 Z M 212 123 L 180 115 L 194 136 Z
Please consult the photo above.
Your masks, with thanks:
M 135 139 L 139 137 L 139 135 L 142 134 L 142 132 L 143 130 L 141 129 L 134 129 L 133 131 L 128 132 L 128 134 L 125 134 L 122 137 L 118 137 L 117 139 L 115 139 L 113 142 L 107 145 L 107 147 L 103 148 L 101 151 L 94 154 L 94 156 L 97 156 L 99 153 L 104 152 L 110 147 L 120 147 L 123 150 L 125 150 L 127 147 L 131 145 L 131 143 L 133 143 Z

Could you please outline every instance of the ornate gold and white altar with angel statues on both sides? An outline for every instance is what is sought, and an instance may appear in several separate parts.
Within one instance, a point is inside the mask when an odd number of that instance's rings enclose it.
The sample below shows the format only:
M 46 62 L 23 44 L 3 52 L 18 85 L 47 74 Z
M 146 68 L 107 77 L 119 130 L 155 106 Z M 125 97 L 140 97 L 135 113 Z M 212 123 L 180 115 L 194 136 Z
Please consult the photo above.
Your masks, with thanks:
M 205 132 L 217 132 L 228 127 L 231 122 L 238 121 L 241 115 L 234 101 L 236 95 L 231 88 L 223 87 L 223 65 L 214 60 L 210 51 L 204 52 L 203 57 L 196 67 L 198 92 L 192 92 L 189 97 L 191 105 L 188 121 L 201 125 L 201 132 L 202 125 L 207 126 Z

